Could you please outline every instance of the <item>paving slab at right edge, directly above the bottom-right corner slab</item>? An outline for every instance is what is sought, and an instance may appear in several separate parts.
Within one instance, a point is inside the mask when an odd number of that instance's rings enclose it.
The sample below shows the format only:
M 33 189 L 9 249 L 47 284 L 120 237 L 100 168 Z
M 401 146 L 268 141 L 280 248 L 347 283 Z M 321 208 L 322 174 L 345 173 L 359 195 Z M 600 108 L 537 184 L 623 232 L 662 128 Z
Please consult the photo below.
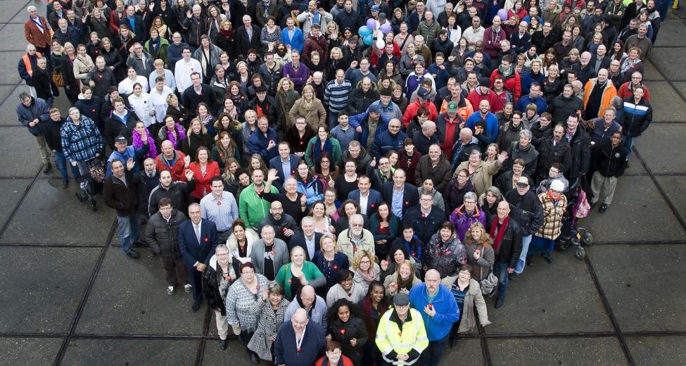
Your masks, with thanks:
M 686 280 L 681 270 L 686 246 L 617 244 L 595 246 L 588 253 L 623 332 L 686 329 L 681 311 L 686 294 L 677 290 Z M 647 277 L 659 284 L 646 286 Z

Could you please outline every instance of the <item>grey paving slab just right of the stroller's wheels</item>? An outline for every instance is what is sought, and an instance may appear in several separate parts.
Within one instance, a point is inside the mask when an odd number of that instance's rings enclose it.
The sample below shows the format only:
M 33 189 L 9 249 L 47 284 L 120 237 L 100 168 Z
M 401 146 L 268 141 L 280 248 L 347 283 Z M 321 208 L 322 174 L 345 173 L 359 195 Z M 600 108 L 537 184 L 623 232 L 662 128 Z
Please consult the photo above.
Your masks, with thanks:
M 655 126 L 657 127 L 657 126 Z M 632 158 L 632 164 L 639 162 Z M 598 207 L 580 220 L 597 241 L 683 240 L 684 229 L 650 177 L 625 176 L 617 183 L 611 206 Z M 652 228 L 659 227 L 659 230 Z

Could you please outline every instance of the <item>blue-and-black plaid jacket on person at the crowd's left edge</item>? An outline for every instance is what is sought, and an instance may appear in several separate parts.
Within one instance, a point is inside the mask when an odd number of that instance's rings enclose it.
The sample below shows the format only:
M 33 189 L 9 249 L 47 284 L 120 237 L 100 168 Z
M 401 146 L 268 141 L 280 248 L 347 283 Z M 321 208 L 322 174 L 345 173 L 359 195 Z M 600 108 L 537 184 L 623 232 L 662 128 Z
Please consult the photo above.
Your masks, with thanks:
M 67 161 L 88 161 L 105 149 L 105 141 L 95 122 L 84 115 L 81 116 L 79 125 L 75 125 L 71 118 L 67 118 L 67 122 L 64 122 L 60 130 L 60 136 Z

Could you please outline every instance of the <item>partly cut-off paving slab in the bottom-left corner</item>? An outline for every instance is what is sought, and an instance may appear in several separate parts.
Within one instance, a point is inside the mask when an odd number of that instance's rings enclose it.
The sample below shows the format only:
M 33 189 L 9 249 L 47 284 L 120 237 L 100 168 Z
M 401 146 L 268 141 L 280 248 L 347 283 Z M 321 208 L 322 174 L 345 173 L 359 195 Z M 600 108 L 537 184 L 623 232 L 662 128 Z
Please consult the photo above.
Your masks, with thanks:
M 1 338 L 2 364 L 51 365 L 61 344 L 61 338 Z

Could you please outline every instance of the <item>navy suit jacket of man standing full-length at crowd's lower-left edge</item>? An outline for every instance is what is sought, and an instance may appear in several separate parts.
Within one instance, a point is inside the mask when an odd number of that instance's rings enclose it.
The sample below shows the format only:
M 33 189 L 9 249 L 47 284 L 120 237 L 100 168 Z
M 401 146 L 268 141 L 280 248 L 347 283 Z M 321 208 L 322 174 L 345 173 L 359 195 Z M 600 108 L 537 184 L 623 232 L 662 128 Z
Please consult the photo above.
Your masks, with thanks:
M 179 249 L 186 267 L 193 267 L 196 262 L 206 265 L 210 263 L 210 258 L 215 254 L 215 248 L 219 242 L 217 226 L 214 222 L 201 219 L 200 238 L 202 242 L 198 243 L 191 220 L 186 220 L 179 225 Z

